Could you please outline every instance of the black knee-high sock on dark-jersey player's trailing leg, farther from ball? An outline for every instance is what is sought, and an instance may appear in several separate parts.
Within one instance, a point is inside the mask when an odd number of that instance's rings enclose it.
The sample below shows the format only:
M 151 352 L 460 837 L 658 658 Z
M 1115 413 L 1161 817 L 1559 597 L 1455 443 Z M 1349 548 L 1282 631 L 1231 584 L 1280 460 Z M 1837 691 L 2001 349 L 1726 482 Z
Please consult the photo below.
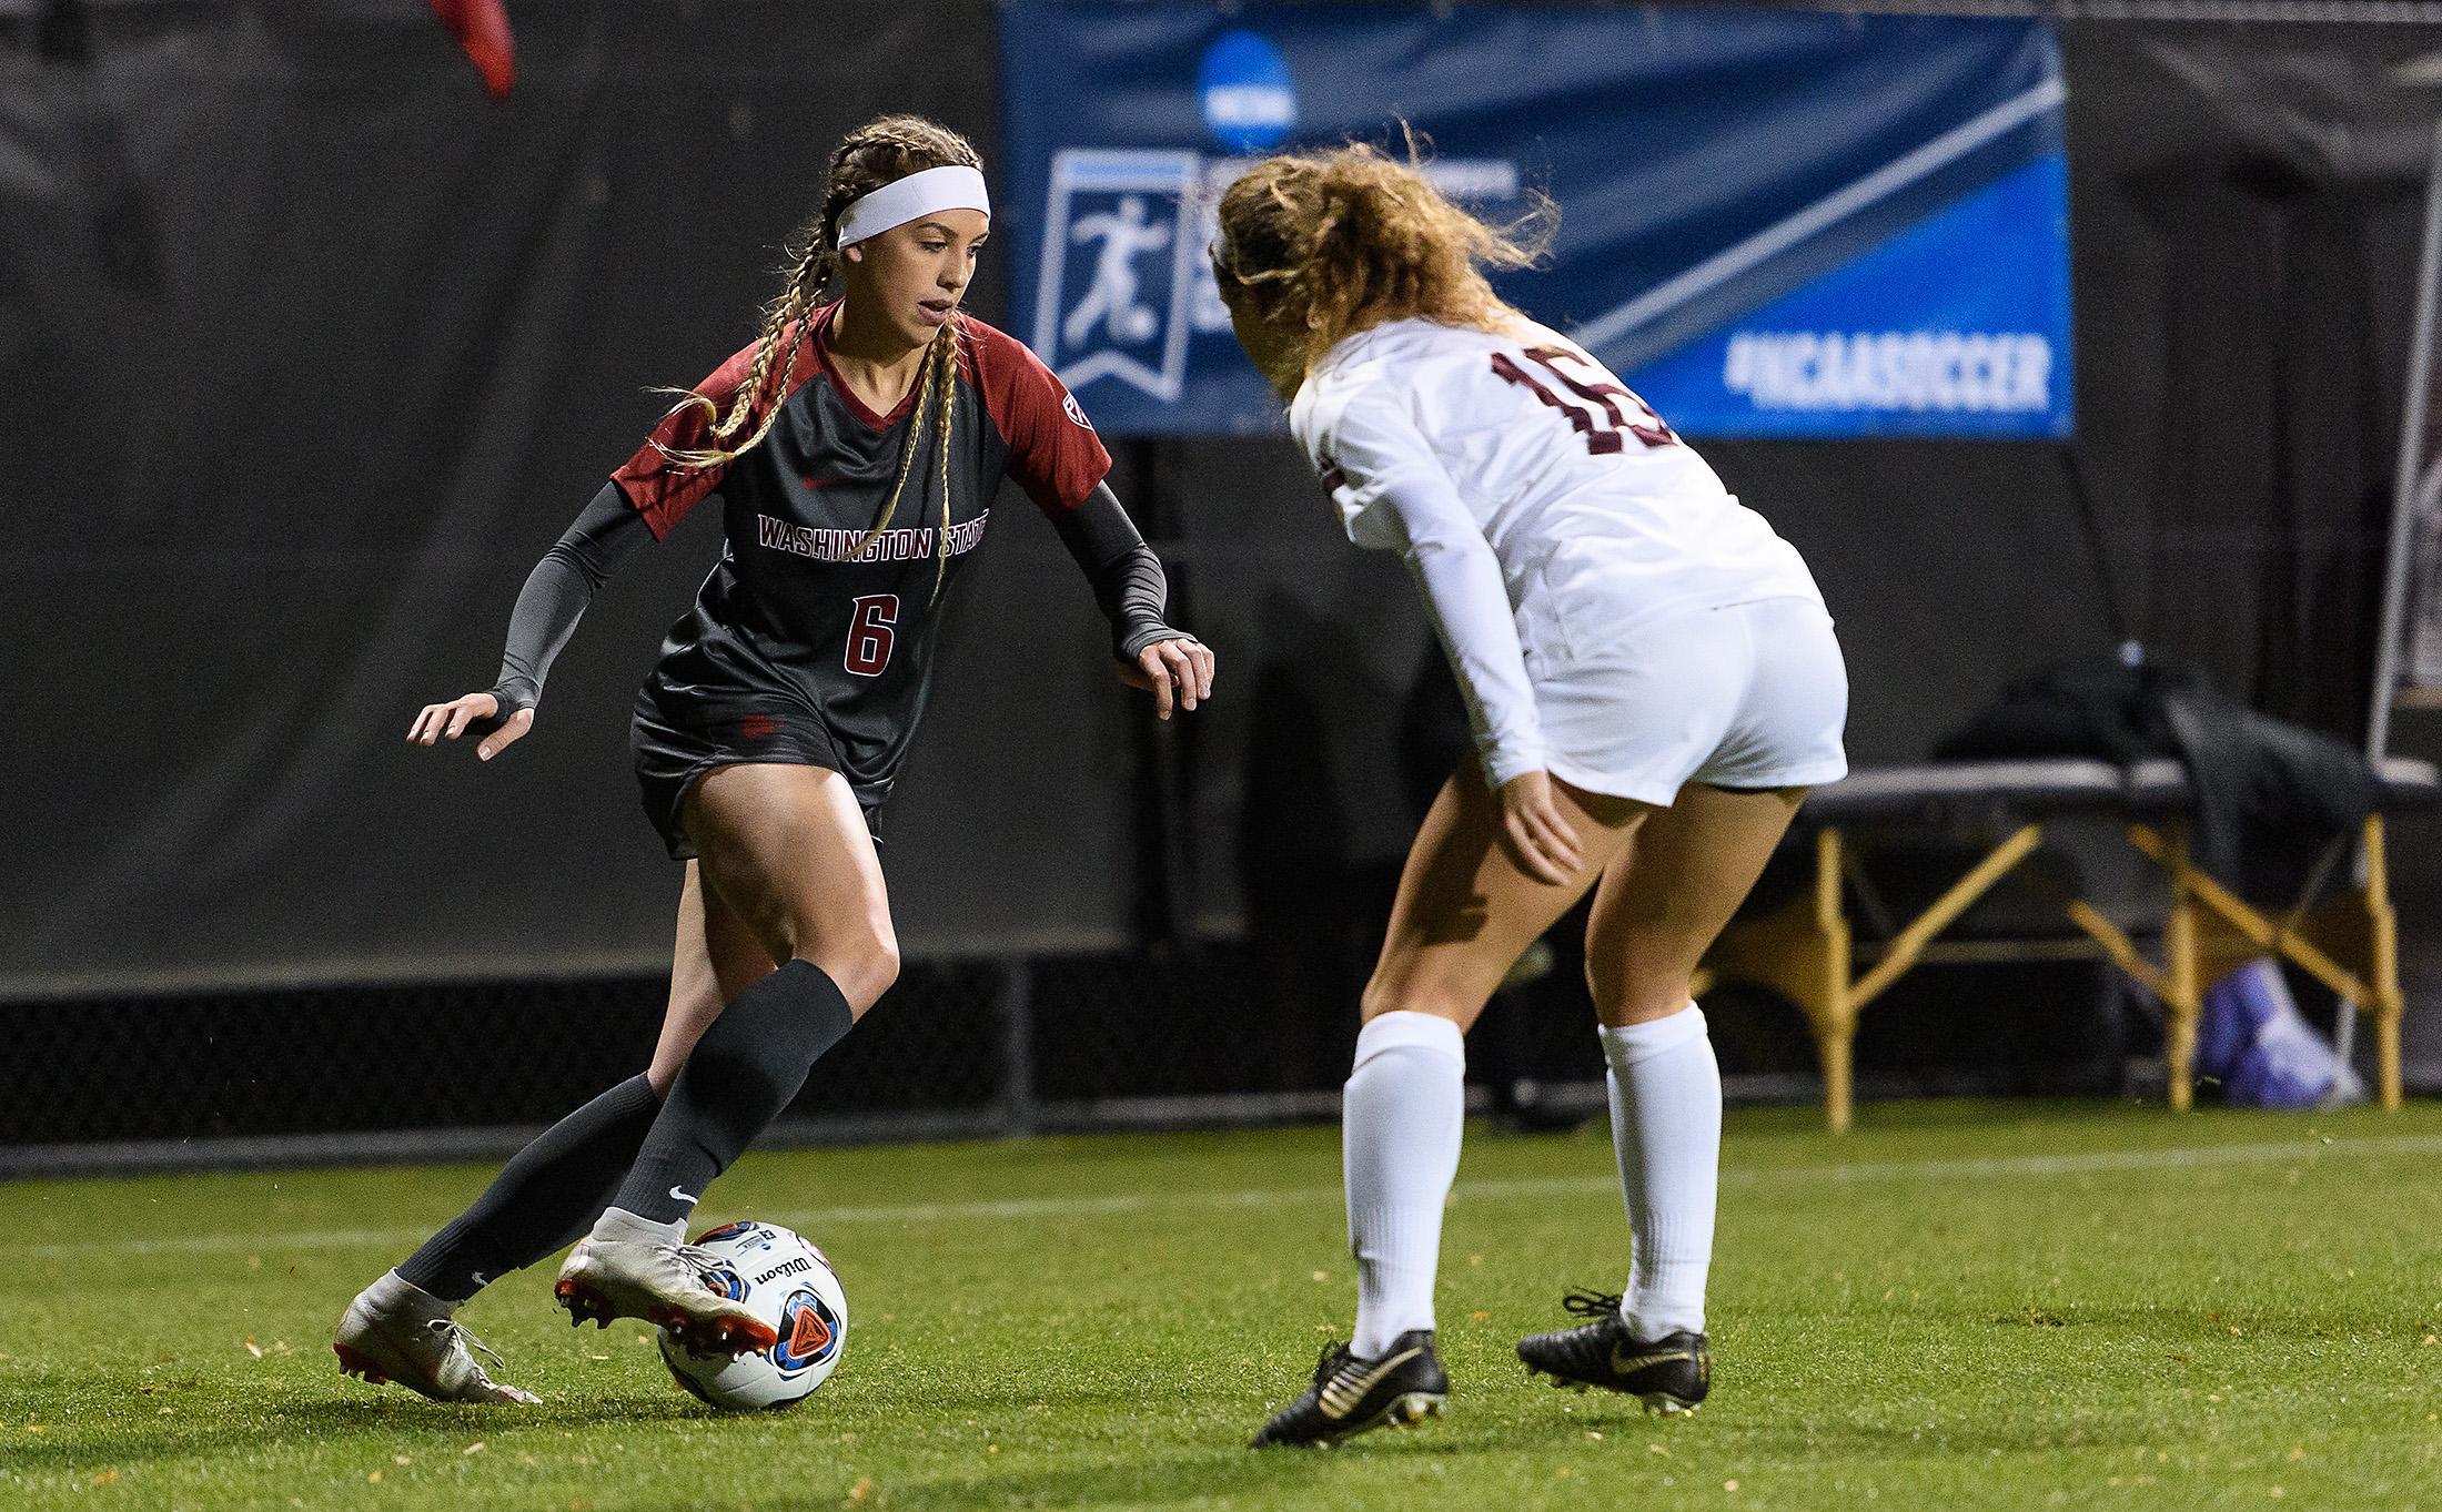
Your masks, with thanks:
M 662 1100 L 632 1075 L 510 1156 L 474 1207 L 398 1266 L 410 1285 L 464 1302 L 576 1241 L 618 1193 Z

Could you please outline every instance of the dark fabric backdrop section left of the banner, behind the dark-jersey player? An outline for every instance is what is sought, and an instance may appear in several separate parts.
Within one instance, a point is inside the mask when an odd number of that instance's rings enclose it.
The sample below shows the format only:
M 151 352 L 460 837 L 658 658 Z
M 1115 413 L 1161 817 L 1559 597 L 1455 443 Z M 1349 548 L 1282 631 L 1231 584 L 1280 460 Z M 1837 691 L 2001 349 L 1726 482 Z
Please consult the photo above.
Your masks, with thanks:
M 491 683 L 647 385 L 752 334 L 842 129 L 991 151 L 989 7 L 520 7 L 518 41 L 505 105 L 420 0 L 103 7 L 90 68 L 0 54 L 0 993 L 667 963 L 625 705 L 708 517 L 606 590 L 510 758 L 398 736 Z M 1031 515 L 894 815 L 918 949 L 1126 919 L 1121 690 Z

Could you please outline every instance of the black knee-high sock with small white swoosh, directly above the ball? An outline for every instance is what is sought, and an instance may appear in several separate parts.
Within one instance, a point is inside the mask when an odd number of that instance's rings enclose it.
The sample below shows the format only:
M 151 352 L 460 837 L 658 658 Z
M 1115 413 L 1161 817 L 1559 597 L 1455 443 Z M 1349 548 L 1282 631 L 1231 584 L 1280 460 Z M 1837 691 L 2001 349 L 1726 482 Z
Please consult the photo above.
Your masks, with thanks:
M 696 1041 L 613 1207 L 679 1222 L 789 1107 L 806 1073 L 857 1022 L 813 961 L 789 961 L 737 995 Z

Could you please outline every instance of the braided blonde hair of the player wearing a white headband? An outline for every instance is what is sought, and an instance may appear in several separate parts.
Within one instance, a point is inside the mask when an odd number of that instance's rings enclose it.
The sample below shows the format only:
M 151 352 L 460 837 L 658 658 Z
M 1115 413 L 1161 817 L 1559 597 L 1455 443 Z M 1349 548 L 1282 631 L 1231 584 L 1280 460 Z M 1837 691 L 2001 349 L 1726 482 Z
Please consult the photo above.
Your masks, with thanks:
M 789 280 L 781 285 L 779 298 L 764 305 L 762 337 L 755 344 L 755 363 L 747 368 L 745 383 L 737 385 L 728 410 L 694 390 L 662 390 L 679 395 L 669 415 L 698 410 L 711 422 L 706 427 L 706 446 L 664 446 L 662 456 L 681 468 L 716 468 L 752 451 L 757 441 L 772 434 L 772 424 L 779 419 L 779 402 L 762 405 L 759 419 L 757 405 L 764 400 L 774 363 L 779 363 L 777 395 L 784 398 L 791 378 L 796 378 L 799 349 L 806 344 L 806 317 L 830 298 L 840 280 L 840 215 L 855 200 L 884 183 L 896 183 L 926 168 L 982 166 L 984 161 L 965 137 L 916 115 L 884 115 L 842 137 L 840 146 L 830 154 L 830 180 L 823 190 L 823 207 L 799 227 L 789 251 Z M 933 344 L 926 346 L 923 366 L 916 371 L 916 415 L 908 424 L 906 449 L 899 454 L 899 480 L 891 485 L 891 497 L 884 500 L 874 527 L 857 544 L 857 554 L 862 556 L 889 529 L 891 517 L 899 512 L 899 497 L 906 493 L 908 478 L 918 471 L 916 456 L 923 449 L 926 417 L 938 412 L 940 561 L 933 571 L 933 597 L 940 597 L 940 585 L 950 576 L 950 412 L 957 407 L 957 319 L 947 319 L 933 337 Z

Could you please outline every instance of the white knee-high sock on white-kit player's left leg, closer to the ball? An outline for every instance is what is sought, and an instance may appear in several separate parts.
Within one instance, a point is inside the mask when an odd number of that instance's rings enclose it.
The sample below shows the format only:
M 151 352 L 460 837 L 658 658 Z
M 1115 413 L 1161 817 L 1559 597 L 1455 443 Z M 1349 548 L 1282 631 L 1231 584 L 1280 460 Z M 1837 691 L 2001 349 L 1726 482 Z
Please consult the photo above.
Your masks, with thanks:
M 1380 1358 L 1409 1329 L 1433 1327 L 1441 1205 L 1458 1178 L 1468 1107 L 1465 1039 L 1424 1012 L 1387 1012 L 1358 1032 L 1341 1100 L 1348 1249 L 1358 1256 L 1358 1327 L 1348 1346 Z

